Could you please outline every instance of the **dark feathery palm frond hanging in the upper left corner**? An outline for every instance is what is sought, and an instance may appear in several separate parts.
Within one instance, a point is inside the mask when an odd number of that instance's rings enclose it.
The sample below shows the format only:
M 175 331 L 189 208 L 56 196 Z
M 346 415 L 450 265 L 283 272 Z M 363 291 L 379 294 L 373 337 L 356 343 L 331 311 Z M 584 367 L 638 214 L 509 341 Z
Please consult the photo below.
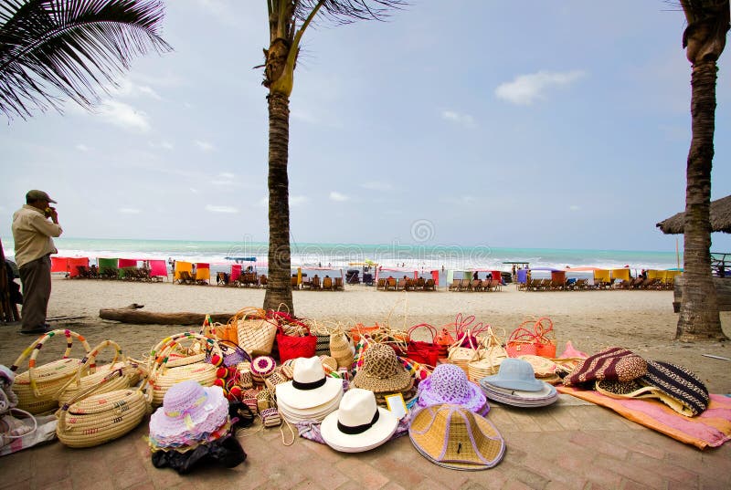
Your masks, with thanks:
M 90 107 L 96 87 L 150 47 L 172 50 L 158 35 L 160 0 L 4 0 L 0 4 L 0 111 L 8 119 L 61 110 L 53 89 Z

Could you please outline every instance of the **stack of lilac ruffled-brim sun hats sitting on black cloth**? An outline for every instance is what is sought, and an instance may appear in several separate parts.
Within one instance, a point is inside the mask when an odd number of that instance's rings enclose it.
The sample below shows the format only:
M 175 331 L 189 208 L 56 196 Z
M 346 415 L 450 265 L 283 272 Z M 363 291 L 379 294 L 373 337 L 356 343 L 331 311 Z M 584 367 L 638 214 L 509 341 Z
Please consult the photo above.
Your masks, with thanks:
M 186 451 L 228 433 L 228 400 L 218 386 L 198 381 L 176 383 L 165 392 L 163 406 L 150 417 L 150 447 L 154 451 Z

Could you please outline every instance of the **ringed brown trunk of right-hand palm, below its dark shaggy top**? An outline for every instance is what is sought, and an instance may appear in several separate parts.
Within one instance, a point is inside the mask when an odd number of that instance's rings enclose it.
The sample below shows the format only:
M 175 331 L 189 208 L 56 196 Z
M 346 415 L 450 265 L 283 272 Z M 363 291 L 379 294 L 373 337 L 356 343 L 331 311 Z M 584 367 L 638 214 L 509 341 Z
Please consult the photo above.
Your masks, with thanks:
M 715 60 L 694 64 L 693 139 L 685 190 L 683 302 L 675 339 L 726 339 L 711 276 L 711 167 L 714 158 Z

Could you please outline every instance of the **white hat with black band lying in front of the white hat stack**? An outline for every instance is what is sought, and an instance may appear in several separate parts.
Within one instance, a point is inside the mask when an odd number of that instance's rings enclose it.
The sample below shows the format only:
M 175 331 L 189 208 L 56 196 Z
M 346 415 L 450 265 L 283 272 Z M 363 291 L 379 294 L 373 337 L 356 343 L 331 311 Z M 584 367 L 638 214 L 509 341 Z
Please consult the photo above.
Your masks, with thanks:
M 335 451 L 361 453 L 386 443 L 397 425 L 396 415 L 376 405 L 373 391 L 353 388 L 343 395 L 339 409 L 324 418 L 320 433 Z

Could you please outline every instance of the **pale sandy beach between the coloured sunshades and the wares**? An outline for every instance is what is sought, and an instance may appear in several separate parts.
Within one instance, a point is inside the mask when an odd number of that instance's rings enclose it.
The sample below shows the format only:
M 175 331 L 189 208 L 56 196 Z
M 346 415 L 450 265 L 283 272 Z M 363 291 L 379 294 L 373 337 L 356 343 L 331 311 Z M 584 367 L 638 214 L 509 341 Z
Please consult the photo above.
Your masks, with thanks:
M 105 339 L 115 340 L 127 355 L 141 359 L 160 339 L 185 328 L 102 320 L 100 308 L 123 308 L 139 303 L 154 312 L 233 313 L 248 306 L 260 307 L 263 298 L 263 289 L 66 279 L 55 275 L 48 316 L 80 316 L 51 323 L 78 331 L 89 339 L 92 347 Z M 673 341 L 677 314 L 673 313 L 672 302 L 672 291 L 524 292 L 510 285 L 503 287 L 503 291 L 490 293 L 445 290 L 397 293 L 365 286 L 346 286 L 344 292 L 294 291 L 298 317 L 344 325 L 378 322 L 407 329 L 426 322 L 440 328 L 462 313 L 474 315 L 497 332 L 509 335 L 524 319 L 545 316 L 554 322 L 559 353 L 567 340 L 588 353 L 622 346 L 646 359 L 673 362 L 694 370 L 712 392 L 731 392 L 731 361 L 703 356 L 731 358 L 731 345 Z M 731 336 L 731 312 L 722 312 L 721 321 L 726 335 Z M 7 366 L 33 340 L 18 334 L 18 329 L 17 325 L 0 327 L 0 363 Z M 49 342 L 38 361 L 56 359 L 54 356 L 64 349 L 63 344 Z M 26 367 L 25 362 L 20 370 Z

